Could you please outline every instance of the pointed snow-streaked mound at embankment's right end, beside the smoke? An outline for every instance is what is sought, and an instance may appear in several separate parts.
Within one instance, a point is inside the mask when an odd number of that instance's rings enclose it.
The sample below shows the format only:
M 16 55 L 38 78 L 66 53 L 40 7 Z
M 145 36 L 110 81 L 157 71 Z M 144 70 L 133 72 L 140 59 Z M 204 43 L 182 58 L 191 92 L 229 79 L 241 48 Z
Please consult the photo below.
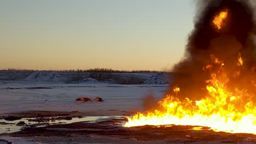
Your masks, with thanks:
M 158 73 L 153 76 L 150 76 L 148 80 L 142 83 L 142 85 L 166 85 L 166 84 L 168 84 L 166 73 Z

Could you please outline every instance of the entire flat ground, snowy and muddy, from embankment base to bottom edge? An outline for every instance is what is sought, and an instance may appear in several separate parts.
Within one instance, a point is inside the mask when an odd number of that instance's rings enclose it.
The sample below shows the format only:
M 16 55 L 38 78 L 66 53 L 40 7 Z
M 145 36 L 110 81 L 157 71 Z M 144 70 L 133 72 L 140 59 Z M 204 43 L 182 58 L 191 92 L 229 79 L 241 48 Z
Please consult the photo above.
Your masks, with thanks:
M 252 134 L 217 133 L 208 128 L 192 130 L 193 126 L 189 125 L 123 127 L 127 116 L 143 110 L 145 96 L 154 94 L 157 99 L 161 99 L 167 88 L 168 85 L 5 83 L 0 85 L 0 144 L 256 142 Z M 81 103 L 75 101 L 78 97 L 101 97 L 104 101 Z M 47 120 L 62 115 L 50 114 L 55 112 L 74 113 L 68 114 L 74 117 L 72 120 Z M 10 115 L 14 116 L 26 115 L 29 118 L 7 121 L 4 119 L 7 113 L 13 113 Z M 46 118 L 48 122 L 29 121 L 36 118 Z M 20 121 L 26 124 L 20 126 Z

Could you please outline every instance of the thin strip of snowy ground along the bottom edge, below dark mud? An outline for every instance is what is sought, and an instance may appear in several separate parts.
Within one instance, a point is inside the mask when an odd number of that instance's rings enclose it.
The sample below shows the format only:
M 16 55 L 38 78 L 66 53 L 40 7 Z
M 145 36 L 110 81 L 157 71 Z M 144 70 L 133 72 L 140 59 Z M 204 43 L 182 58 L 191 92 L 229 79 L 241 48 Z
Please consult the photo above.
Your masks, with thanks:
M 76 137 L 59 137 L 59 136 L 49 136 L 49 137 L 36 137 L 34 139 L 25 137 L 10 137 L 10 136 L 1 136 L 0 137 L 0 144 L 6 144 L 4 142 L 9 141 L 13 144 L 48 144 L 49 143 L 59 143 L 59 144 L 67 144 L 67 143 L 76 143 L 76 144 L 83 144 L 83 143 L 94 143 L 94 144 L 107 144 L 107 143 L 145 143 L 145 144 L 160 144 L 160 143 L 193 143 L 193 144 L 219 144 L 219 143 L 230 143 L 225 142 L 225 140 L 213 140 L 213 141 L 191 141 L 188 139 L 179 139 L 179 140 L 151 140 L 151 141 L 137 141 L 135 139 L 120 139 L 118 137 L 109 137 L 109 136 L 76 136 Z M 251 140 L 252 138 L 241 139 L 236 141 L 235 143 L 238 144 L 253 144 L 256 140 Z M 43 141 L 43 142 L 42 142 Z M 46 141 L 46 142 L 44 142 Z M 87 142 L 90 141 L 90 142 Z M 233 142 L 232 142 L 233 143 Z

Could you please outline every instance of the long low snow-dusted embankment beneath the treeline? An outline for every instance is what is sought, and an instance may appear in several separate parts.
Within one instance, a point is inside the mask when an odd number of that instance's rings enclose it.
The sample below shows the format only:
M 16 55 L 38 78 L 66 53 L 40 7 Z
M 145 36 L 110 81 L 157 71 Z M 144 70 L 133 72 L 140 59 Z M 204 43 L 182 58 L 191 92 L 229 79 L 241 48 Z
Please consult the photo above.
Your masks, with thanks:
M 0 70 L 0 83 L 165 85 L 166 73 Z

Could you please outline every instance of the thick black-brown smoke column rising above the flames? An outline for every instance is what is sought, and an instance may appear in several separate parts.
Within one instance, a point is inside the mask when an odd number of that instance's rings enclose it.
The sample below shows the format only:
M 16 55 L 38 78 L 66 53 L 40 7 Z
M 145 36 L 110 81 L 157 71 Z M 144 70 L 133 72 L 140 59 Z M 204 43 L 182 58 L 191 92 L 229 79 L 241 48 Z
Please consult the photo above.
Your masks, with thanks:
M 184 58 L 173 67 L 174 81 L 167 94 L 172 93 L 172 88 L 177 85 L 181 88 L 180 99 L 199 100 L 206 95 L 205 81 L 211 77 L 210 71 L 202 70 L 211 62 L 210 55 L 222 59 L 228 65 L 226 73 L 232 75 L 236 70 L 238 52 L 241 52 L 244 61 L 241 76 L 230 78 L 228 86 L 232 89 L 246 86 L 256 94 L 256 88 L 249 85 L 254 79 L 251 69 L 256 65 L 253 4 L 247 0 L 201 0 L 196 4 L 194 29 L 188 37 Z M 213 17 L 226 9 L 226 25 L 217 31 L 212 23 Z

